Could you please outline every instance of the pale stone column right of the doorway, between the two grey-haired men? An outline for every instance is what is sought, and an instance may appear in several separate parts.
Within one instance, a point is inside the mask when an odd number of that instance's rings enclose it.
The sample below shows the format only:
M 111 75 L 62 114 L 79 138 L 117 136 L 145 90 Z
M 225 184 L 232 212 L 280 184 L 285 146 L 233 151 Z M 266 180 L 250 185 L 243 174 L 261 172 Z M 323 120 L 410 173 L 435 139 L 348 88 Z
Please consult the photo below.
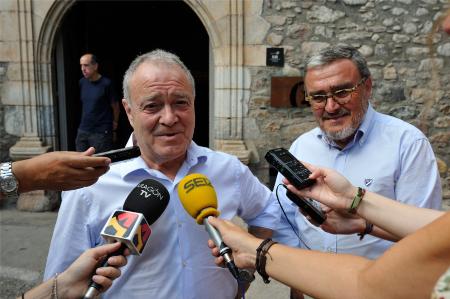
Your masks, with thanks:
M 214 147 L 236 155 L 248 164 L 250 151 L 243 140 L 244 100 L 249 87 L 245 86 L 246 73 L 243 63 L 244 2 L 228 2 L 228 15 L 222 20 L 227 31 L 221 49 L 216 49 L 214 90 Z M 247 80 L 249 82 L 249 80 Z

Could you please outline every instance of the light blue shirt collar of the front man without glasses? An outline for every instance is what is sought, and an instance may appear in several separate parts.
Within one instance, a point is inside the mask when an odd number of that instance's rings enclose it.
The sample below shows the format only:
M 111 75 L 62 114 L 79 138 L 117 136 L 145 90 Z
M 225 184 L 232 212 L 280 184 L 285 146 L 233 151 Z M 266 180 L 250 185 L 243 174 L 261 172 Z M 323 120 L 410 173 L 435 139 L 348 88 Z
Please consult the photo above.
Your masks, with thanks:
M 206 149 L 198 146 L 194 141 L 191 141 L 191 144 L 187 149 L 184 163 L 187 164 L 188 168 L 191 168 L 199 163 L 205 163 L 207 157 Z M 142 172 L 150 173 L 152 171 L 142 157 L 119 162 L 116 167 L 118 168 L 121 178 L 124 180 L 131 175 L 138 175 Z

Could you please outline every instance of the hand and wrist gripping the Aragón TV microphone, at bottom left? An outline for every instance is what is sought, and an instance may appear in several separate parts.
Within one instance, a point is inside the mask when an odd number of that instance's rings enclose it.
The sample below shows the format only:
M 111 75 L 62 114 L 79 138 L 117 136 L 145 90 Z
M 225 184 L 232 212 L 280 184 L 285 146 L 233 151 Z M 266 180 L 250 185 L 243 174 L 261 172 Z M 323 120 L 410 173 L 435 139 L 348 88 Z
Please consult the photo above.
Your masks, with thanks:
M 127 260 L 122 255 L 111 256 L 108 258 L 108 267 L 96 267 L 105 256 L 119 248 L 120 243 L 116 242 L 85 251 L 66 271 L 23 293 L 21 298 L 79 299 L 87 291 L 91 278 L 102 287 L 101 292 L 106 291 L 112 281 L 120 276 L 118 267 L 125 266 Z M 125 255 L 128 254 L 127 251 Z

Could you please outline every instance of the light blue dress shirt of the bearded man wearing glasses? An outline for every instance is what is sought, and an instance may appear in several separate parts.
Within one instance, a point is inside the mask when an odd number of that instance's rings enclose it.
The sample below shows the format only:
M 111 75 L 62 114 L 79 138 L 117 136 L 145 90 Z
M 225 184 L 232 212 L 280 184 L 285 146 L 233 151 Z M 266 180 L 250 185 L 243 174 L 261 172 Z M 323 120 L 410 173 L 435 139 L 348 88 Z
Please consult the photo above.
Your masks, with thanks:
M 353 185 L 418 207 L 440 209 L 442 190 L 436 158 L 425 135 L 414 126 L 376 112 L 371 105 L 354 139 L 343 150 L 327 140 L 320 128 L 301 135 L 290 148 L 301 161 L 332 168 Z M 276 186 L 281 183 L 278 174 Z M 333 235 L 309 223 L 278 188 L 282 205 L 304 243 L 284 215 L 274 239 L 320 251 L 380 256 L 393 243 L 370 235 Z M 363 199 L 364 200 L 364 199 Z

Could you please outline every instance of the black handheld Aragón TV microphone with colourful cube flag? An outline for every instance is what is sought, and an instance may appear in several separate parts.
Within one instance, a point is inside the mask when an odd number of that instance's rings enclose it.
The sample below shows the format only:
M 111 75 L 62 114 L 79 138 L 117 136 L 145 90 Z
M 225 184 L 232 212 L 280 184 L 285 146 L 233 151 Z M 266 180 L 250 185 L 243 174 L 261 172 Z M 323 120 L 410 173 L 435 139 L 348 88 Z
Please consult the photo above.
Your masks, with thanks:
M 122 246 L 109 254 L 100 267 L 108 266 L 108 258 L 123 254 L 128 248 L 133 255 L 141 255 L 151 235 L 150 225 L 164 212 L 170 195 L 161 183 L 147 179 L 140 182 L 128 194 L 123 210 L 116 210 L 106 222 L 101 235 L 108 242 L 120 242 Z M 92 282 L 84 299 L 94 298 L 101 286 Z

